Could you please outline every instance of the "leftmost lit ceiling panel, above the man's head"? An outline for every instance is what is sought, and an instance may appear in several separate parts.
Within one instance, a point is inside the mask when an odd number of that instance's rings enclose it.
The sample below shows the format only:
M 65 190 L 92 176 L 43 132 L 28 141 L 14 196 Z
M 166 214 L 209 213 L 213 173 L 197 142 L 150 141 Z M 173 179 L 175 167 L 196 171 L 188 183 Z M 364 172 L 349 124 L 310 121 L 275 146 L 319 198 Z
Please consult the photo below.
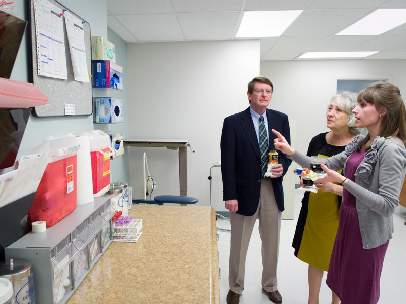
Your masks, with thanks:
M 236 38 L 279 37 L 303 12 L 253 11 L 244 12 Z

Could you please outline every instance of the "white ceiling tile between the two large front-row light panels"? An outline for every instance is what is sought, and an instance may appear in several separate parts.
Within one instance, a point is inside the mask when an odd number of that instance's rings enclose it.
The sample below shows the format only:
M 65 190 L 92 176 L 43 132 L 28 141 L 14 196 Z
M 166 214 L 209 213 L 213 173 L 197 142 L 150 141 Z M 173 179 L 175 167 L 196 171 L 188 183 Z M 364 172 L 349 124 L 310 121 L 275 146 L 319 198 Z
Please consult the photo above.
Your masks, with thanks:
M 329 36 L 340 32 L 363 17 L 369 9 L 307 10 L 283 36 Z

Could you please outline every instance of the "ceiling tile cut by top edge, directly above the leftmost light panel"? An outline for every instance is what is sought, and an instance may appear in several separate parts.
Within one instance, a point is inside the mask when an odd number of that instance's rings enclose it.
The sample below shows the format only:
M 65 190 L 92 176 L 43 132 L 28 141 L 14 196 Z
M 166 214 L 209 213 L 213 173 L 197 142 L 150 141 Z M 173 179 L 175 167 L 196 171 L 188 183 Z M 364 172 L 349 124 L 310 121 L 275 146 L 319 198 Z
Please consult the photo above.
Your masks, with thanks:
M 310 8 L 314 0 L 246 0 L 244 11 L 304 10 Z

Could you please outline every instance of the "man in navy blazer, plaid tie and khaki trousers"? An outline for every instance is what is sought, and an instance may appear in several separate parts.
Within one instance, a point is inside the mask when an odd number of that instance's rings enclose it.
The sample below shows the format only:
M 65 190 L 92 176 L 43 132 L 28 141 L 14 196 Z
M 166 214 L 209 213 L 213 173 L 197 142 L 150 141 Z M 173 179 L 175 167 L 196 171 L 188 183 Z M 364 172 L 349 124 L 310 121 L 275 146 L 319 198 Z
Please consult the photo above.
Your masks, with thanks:
M 266 77 L 255 77 L 248 83 L 250 107 L 224 119 L 220 143 L 221 174 L 223 200 L 226 209 L 230 211 L 231 222 L 228 304 L 239 303 L 244 289 L 245 260 L 257 218 L 262 240 L 262 288 L 272 302 L 282 302 L 282 296 L 278 292 L 276 268 L 281 213 L 285 209 L 282 177 L 291 160 L 278 151 L 278 165 L 270 169 L 275 177 L 268 178 L 263 175 L 264 159 L 261 161 L 260 152 L 262 120 L 268 138 L 266 154 L 274 148 L 276 135 L 271 132 L 272 129 L 282 133 L 290 143 L 287 115 L 267 109 L 273 88 L 272 82 Z M 264 139 L 261 145 L 265 142 Z M 265 153 L 265 148 L 263 152 Z

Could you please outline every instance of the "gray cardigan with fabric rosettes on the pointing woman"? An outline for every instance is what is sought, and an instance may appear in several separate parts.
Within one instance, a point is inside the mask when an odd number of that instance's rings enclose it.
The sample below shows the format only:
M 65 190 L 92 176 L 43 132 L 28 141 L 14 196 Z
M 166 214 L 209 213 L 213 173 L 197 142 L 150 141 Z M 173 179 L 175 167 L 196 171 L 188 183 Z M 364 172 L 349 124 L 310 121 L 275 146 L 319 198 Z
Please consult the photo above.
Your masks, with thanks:
M 362 138 L 363 135 L 359 135 L 354 141 L 359 142 Z M 334 171 L 345 170 L 347 159 L 353 153 L 353 149 L 347 147 L 348 155 L 344 151 L 327 159 L 328 168 Z M 310 167 L 310 157 L 297 151 L 289 158 L 303 167 Z M 366 167 L 370 169 L 365 170 Z M 366 171 L 370 172 L 370 176 Z M 344 188 L 355 196 L 362 248 L 375 248 L 392 238 L 393 213 L 399 205 L 405 173 L 404 144 L 400 140 L 386 138 L 377 149 L 376 162 L 368 164 L 363 159 L 355 172 L 355 182 L 347 180 L 344 185 Z

